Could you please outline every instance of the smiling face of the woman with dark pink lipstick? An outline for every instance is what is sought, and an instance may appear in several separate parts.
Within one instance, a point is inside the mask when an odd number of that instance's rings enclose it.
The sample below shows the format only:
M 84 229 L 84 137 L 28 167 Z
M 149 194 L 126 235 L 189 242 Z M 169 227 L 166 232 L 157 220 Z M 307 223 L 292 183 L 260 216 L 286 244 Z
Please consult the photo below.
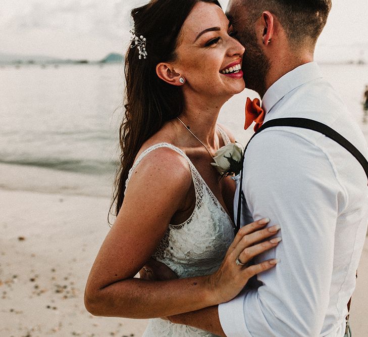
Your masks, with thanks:
M 234 34 L 220 7 L 204 2 L 194 6 L 182 27 L 175 62 L 188 88 L 226 98 L 244 89 L 244 47 Z

